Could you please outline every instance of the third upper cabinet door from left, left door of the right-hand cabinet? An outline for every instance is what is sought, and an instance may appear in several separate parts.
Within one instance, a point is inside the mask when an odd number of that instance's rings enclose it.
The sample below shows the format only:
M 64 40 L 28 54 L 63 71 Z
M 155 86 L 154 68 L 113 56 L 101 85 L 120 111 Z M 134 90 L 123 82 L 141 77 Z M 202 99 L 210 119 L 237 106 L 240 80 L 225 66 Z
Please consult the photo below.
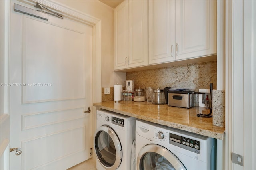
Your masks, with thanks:
M 149 1 L 149 64 L 175 60 L 175 1 Z

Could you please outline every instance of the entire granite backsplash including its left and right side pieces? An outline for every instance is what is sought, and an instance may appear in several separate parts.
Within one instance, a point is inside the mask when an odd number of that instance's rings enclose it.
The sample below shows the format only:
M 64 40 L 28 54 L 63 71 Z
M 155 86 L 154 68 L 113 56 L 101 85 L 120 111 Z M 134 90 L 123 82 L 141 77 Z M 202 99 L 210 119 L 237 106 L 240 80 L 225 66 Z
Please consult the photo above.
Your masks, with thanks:
M 145 87 L 154 89 L 172 87 L 188 88 L 198 92 L 199 89 L 210 89 L 210 83 L 213 83 L 213 87 L 216 89 L 217 61 L 127 72 L 126 80 L 134 80 L 135 89 L 139 87 L 143 89 Z M 112 101 L 114 100 L 113 96 L 114 87 L 110 87 L 108 95 L 104 95 L 104 88 L 102 88 L 102 101 Z M 225 92 L 214 90 L 213 100 L 213 125 L 224 127 Z M 194 105 L 199 105 L 198 94 L 194 96 Z

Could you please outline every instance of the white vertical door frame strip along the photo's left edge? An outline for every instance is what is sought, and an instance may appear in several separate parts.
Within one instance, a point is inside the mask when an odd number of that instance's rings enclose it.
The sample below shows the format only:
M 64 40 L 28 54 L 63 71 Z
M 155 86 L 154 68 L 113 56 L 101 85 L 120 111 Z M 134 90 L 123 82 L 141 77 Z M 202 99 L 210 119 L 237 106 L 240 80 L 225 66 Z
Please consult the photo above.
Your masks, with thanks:
M 10 2 L 1 1 L 0 9 L 0 82 L 9 83 Z M 0 168 L 9 169 L 9 87 L 1 87 L 0 94 Z

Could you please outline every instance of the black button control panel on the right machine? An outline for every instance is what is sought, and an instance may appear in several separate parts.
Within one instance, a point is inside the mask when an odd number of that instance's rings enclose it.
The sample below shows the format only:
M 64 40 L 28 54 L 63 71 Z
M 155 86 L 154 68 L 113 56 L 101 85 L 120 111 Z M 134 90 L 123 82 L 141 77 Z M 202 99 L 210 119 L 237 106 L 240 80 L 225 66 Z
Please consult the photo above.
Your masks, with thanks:
M 200 142 L 197 140 L 169 133 L 169 143 L 200 154 Z

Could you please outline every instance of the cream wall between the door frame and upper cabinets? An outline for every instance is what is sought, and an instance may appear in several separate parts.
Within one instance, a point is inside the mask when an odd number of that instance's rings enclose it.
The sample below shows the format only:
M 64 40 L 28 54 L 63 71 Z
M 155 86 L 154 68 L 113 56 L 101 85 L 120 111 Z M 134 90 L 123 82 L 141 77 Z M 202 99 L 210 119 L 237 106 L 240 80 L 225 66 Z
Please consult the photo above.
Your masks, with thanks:
M 102 87 L 126 80 L 126 73 L 114 72 L 114 9 L 98 0 L 57 1 L 102 21 Z

